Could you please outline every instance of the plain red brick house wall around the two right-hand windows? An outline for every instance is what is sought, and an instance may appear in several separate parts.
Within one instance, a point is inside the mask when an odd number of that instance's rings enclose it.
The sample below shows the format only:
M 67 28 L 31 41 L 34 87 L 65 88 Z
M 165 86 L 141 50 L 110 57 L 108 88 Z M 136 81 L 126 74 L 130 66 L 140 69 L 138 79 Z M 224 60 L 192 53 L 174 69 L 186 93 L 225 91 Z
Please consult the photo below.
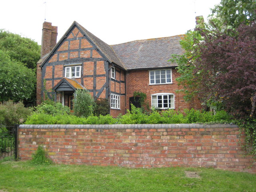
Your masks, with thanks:
M 151 95 L 155 93 L 173 93 L 175 97 L 175 110 L 190 108 L 190 104 L 183 99 L 184 94 L 176 93 L 182 87 L 178 86 L 176 78 L 180 76 L 176 69 L 172 69 L 172 84 L 149 85 L 149 71 L 136 70 L 126 73 L 126 108 L 129 109 L 129 98 L 134 91 L 144 92 L 147 95 L 146 102 L 151 108 Z

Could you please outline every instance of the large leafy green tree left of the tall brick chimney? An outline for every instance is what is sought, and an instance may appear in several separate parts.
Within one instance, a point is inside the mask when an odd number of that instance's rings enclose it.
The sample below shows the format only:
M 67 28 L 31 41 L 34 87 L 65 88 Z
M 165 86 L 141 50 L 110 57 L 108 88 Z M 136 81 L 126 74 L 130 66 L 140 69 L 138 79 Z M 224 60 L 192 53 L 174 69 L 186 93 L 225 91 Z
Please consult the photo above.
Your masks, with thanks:
M 39 59 L 40 46 L 36 42 L 0 30 L 0 102 L 14 100 L 34 105 Z

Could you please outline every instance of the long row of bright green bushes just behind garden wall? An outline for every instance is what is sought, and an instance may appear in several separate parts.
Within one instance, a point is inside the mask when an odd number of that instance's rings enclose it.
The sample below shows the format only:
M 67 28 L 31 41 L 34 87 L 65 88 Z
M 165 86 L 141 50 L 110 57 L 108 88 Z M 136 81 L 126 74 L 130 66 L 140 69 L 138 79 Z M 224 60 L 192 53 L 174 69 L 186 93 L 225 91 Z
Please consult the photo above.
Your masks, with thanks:
M 127 110 L 127 114 L 113 118 L 112 116 L 88 116 L 87 118 L 68 114 L 44 114 L 34 113 L 28 117 L 26 124 L 179 124 L 179 123 L 225 123 L 230 122 L 231 116 L 224 111 L 205 112 L 200 110 L 186 110 L 186 113 L 176 112 L 173 109 L 158 112 L 152 110 L 147 115 L 141 108 L 132 106 L 132 110 Z

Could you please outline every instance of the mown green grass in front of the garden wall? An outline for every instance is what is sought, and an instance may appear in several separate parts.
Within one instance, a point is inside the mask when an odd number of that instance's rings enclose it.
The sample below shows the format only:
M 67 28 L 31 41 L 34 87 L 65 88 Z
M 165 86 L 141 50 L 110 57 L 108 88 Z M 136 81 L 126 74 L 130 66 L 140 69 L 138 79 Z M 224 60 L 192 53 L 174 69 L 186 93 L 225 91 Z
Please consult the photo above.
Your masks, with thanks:
M 197 171 L 201 178 L 187 178 Z M 256 192 L 256 174 L 213 168 L 135 169 L 0 161 L 0 192 Z

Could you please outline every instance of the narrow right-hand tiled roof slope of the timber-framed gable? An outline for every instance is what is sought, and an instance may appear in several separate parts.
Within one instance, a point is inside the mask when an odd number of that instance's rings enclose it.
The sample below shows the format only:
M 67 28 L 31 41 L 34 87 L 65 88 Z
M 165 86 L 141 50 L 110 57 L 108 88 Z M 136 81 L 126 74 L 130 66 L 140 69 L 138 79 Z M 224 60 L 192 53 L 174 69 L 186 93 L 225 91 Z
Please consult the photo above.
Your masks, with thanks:
M 116 56 L 116 54 L 108 44 L 106 44 L 104 41 L 100 40 L 94 34 L 86 30 L 82 25 L 78 24 L 78 22 L 74 21 L 74 23 L 84 32 L 84 34 L 88 36 L 88 38 L 90 38 L 90 40 L 92 40 L 92 42 L 106 56 L 106 58 L 108 58 L 110 62 L 113 62 L 121 68 L 125 69 L 125 66 L 122 64 L 122 62 L 119 60 L 119 58 Z

